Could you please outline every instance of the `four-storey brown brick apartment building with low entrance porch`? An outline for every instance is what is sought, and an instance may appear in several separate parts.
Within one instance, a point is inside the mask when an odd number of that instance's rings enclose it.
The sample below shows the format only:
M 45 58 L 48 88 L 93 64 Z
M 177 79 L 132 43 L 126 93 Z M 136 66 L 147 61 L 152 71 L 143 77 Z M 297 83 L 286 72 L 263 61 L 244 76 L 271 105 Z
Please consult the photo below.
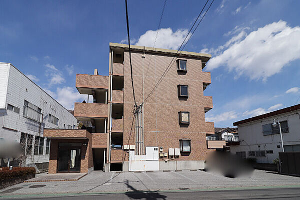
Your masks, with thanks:
M 130 49 L 137 106 L 128 45 L 109 43 L 108 76 L 97 70 L 76 75 L 78 92 L 92 95 L 93 103 L 75 103 L 74 116 L 90 127 L 45 130 L 51 138 L 49 173 L 203 168 L 206 154 L 214 150 L 205 140 L 214 134 L 213 122 L 204 119 L 212 108 L 212 97 L 203 95 L 210 73 L 202 71 L 211 55 Z

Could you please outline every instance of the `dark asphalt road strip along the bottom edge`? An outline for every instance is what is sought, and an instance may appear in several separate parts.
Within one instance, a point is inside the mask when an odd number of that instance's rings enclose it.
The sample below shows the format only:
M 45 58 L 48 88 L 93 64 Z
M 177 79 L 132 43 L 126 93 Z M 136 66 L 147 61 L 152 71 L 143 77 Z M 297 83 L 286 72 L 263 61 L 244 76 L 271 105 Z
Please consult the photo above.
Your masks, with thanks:
M 213 191 L 125 192 L 76 196 L 28 197 L 13 199 L 300 199 L 300 188 L 234 189 Z

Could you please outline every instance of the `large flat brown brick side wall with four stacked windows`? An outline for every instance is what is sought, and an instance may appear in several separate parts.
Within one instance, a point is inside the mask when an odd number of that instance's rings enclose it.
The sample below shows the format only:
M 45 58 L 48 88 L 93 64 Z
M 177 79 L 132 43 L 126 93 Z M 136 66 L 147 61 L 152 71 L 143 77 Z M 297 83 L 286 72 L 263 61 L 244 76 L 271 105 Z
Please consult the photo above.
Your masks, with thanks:
M 132 67 L 134 91 L 137 102 L 141 102 L 142 60 L 141 52 L 133 52 Z M 144 59 L 144 96 L 146 97 L 168 64 L 171 56 L 146 54 Z M 205 122 L 204 107 L 212 107 L 212 98 L 203 96 L 203 82 L 210 81 L 210 74 L 202 72 L 201 60 L 181 57 L 187 60 L 187 72 L 178 73 L 176 62 L 144 104 L 144 146 L 162 146 L 163 152 L 168 148 L 179 148 L 179 139 L 191 140 L 191 152 L 179 156 L 179 160 L 203 160 L 206 153 L 205 135 L 213 129 L 213 123 Z M 149 68 L 148 68 L 149 66 Z M 148 72 L 146 74 L 146 70 Z M 177 85 L 188 85 L 189 97 L 179 99 Z M 130 80 L 128 52 L 124 53 L 124 135 L 123 144 L 135 145 L 135 127 L 132 124 L 133 95 Z M 190 112 L 190 124 L 179 125 L 178 112 Z M 124 152 L 124 154 L 126 154 Z M 127 160 L 127 155 L 125 155 Z

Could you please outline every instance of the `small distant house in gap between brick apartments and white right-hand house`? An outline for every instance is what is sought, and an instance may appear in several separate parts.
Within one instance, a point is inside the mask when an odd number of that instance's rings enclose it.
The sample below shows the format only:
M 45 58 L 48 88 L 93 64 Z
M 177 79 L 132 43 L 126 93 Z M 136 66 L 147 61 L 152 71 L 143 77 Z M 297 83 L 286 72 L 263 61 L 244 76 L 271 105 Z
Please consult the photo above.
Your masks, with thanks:
M 214 128 L 214 134 L 206 135 L 207 148 L 230 151 L 230 145 L 238 144 L 237 128 Z

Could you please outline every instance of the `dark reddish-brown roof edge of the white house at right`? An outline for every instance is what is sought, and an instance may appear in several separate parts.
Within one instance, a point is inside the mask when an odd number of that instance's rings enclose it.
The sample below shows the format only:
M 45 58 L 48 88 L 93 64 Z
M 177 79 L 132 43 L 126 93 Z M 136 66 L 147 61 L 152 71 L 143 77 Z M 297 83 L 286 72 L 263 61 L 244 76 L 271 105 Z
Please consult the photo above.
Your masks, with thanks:
M 282 108 L 280 110 L 275 110 L 273 112 L 265 113 L 265 114 L 258 115 L 258 116 L 255 116 L 255 117 L 251 117 L 251 118 L 248 118 L 248 119 L 244 119 L 244 120 L 241 120 L 241 121 L 233 122 L 233 126 L 237 126 L 239 124 L 244 124 L 244 123 L 247 123 L 247 122 L 263 119 L 263 118 L 266 118 L 266 117 L 271 117 L 271 116 L 291 112 L 291 111 L 298 110 L 298 109 L 300 109 L 300 104 L 290 106 L 290 107 L 287 107 L 287 108 Z

